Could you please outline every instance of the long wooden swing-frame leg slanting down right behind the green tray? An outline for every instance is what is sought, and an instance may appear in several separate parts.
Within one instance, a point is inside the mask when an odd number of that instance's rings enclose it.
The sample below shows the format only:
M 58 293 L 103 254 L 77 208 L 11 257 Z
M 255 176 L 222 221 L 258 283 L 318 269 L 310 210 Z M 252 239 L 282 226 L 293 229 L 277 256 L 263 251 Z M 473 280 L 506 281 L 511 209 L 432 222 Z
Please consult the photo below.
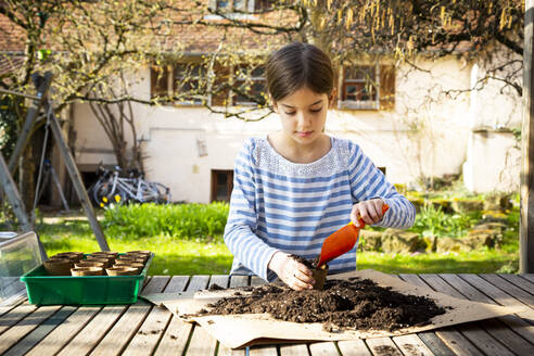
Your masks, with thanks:
M 47 112 L 50 110 L 50 103 L 48 102 L 48 100 L 44 101 L 43 107 Z M 100 249 L 102 251 L 110 251 L 110 246 L 107 245 L 107 241 L 105 240 L 104 231 L 102 231 L 102 227 L 97 220 L 97 215 L 94 214 L 94 209 L 92 208 L 91 201 L 89 199 L 89 195 L 87 194 L 87 190 L 84 187 L 84 181 L 81 180 L 81 176 L 79 175 L 76 162 L 74 161 L 74 157 L 71 154 L 71 150 L 68 149 L 65 139 L 63 138 L 60 123 L 55 118 L 53 111 L 50 112 L 49 115 L 50 128 L 52 129 L 55 142 L 58 143 L 58 148 L 60 149 L 60 152 L 63 156 L 63 161 L 65 162 L 65 166 L 67 168 L 68 175 L 71 176 L 74 189 L 76 190 L 81 206 L 86 212 L 87 219 L 89 220 L 92 232 L 94 232 L 94 237 L 97 238 Z

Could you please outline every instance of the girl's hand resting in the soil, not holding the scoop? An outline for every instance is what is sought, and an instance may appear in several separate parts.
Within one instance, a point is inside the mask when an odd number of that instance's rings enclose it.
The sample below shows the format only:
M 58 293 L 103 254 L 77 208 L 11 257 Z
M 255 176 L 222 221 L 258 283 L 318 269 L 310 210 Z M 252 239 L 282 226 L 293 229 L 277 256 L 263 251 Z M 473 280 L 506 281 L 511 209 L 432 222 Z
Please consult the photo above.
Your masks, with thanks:
M 278 278 L 292 290 L 303 291 L 314 288 L 315 280 L 312 271 L 287 253 L 281 251 L 275 253 L 268 268 L 275 271 Z

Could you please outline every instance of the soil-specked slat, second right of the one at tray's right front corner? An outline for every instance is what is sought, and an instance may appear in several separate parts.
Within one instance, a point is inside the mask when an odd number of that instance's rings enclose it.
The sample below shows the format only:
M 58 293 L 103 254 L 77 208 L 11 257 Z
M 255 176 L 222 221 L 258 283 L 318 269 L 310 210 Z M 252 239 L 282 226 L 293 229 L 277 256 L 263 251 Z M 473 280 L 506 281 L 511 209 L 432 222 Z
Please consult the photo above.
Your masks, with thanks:
M 173 277 L 167 287 L 165 287 L 164 292 L 181 292 L 186 288 L 188 281 L 189 278 L 185 276 Z M 171 315 L 173 314 L 165 307 L 154 307 L 122 355 L 141 356 L 152 354 L 160 342 Z

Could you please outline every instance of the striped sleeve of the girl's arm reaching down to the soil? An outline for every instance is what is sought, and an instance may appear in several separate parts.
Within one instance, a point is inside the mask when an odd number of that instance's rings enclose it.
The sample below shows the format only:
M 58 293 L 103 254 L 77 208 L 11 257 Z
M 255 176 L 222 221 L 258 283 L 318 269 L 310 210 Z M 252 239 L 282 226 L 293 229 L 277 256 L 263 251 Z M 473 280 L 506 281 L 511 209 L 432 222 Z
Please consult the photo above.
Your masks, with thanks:
M 267 280 L 267 265 L 278 251 L 257 234 L 253 141 L 247 140 L 236 158 L 230 212 L 225 228 L 225 243 L 233 256 L 255 275 Z

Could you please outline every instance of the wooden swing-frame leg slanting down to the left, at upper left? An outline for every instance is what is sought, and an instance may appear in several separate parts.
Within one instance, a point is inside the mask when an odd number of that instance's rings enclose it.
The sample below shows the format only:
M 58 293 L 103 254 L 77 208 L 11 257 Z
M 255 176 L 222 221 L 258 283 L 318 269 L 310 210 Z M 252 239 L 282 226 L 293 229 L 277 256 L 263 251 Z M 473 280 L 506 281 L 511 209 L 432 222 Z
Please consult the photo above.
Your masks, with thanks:
M 52 74 L 50 72 L 47 72 L 42 80 L 38 80 L 38 76 L 36 76 L 36 74 L 33 74 L 31 78 L 34 79 L 34 82 L 37 87 L 37 98 L 33 101 L 31 106 L 29 106 L 28 109 L 26 120 L 24 122 L 23 129 L 18 136 L 18 140 L 16 140 L 15 149 L 13 150 L 13 154 L 11 154 L 10 162 L 8 164 L 12 175 L 16 170 L 16 163 L 18 162 L 21 154 L 28 144 L 30 138 L 29 132 L 34 127 L 35 119 L 37 118 L 37 115 L 41 110 L 42 103 L 47 98 L 48 89 L 50 88 L 50 81 L 52 80 Z

